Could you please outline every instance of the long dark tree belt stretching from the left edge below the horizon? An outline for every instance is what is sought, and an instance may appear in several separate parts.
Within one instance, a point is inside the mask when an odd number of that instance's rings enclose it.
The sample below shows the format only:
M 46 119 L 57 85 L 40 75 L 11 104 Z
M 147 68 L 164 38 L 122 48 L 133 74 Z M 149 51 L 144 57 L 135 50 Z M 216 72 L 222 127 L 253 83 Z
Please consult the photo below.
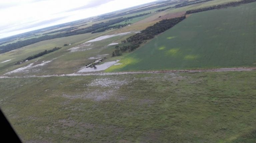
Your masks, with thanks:
M 59 34 L 55 34 L 55 35 L 44 35 L 44 36 L 41 36 L 41 37 L 38 37 L 38 38 L 31 38 L 31 39 L 27 39 L 27 40 L 23 40 L 23 41 L 18 41 L 18 42 L 15 42 L 15 43 L 0 46 L 0 53 L 8 52 L 8 51 L 11 51 L 11 50 L 14 50 L 14 49 L 26 46 L 26 45 L 30 45 L 30 44 L 33 44 L 33 43 L 37 43 L 37 42 L 40 42 L 40 41 L 43 41 L 43 40 L 49 40 L 49 39 L 54 39 L 54 38 L 91 33 L 91 32 L 94 32 L 94 31 L 104 29 L 105 27 L 111 26 L 113 24 L 116 24 L 116 23 L 119 23 L 119 22 L 122 22 L 122 21 L 125 21 L 125 20 L 129 20 L 129 19 L 133 19 L 133 18 L 136 18 L 136 17 L 145 16 L 145 15 L 148 15 L 148 14 L 150 14 L 150 13 L 144 13 L 144 14 L 140 14 L 140 15 L 125 17 L 125 18 L 121 17 L 121 18 L 110 20 L 110 21 L 105 22 L 105 23 L 94 24 L 94 25 L 92 25 L 90 27 L 87 27 L 87 28 L 77 29 L 77 30 L 68 31 L 68 32 L 65 32 L 65 33 L 59 33 Z M 103 30 L 101 30 L 101 31 L 103 32 Z

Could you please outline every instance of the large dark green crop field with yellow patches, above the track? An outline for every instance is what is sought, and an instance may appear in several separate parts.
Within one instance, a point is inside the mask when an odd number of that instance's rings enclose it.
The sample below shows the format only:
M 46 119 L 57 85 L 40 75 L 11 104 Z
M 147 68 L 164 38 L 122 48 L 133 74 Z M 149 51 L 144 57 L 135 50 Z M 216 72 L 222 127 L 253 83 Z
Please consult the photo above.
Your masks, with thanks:
M 256 3 L 190 15 L 106 71 L 256 65 Z

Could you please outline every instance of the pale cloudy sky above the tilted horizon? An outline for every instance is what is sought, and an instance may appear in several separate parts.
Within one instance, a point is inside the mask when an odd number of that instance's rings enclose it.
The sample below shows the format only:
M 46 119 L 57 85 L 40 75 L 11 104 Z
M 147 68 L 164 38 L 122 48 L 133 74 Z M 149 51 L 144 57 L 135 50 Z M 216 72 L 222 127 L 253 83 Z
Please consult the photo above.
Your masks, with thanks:
M 0 0 L 0 38 L 156 0 Z

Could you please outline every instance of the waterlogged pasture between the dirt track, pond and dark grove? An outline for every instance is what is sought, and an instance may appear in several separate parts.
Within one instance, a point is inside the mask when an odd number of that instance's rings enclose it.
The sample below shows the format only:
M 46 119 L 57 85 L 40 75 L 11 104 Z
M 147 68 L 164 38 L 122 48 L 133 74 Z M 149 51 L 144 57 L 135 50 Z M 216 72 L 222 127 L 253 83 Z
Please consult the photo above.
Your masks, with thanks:
M 87 46 L 89 50 L 75 51 L 60 54 L 60 56 L 50 62 L 48 65 L 44 66 L 43 70 L 38 73 L 33 74 L 68 74 L 77 72 L 80 68 L 85 65 L 95 61 L 96 59 L 89 59 L 91 57 L 96 57 L 98 55 L 104 55 L 107 58 L 106 61 L 113 61 L 112 52 L 115 50 L 116 45 L 107 46 L 110 43 L 119 43 L 121 40 L 126 39 L 131 36 L 115 36 L 101 41 L 92 42 L 91 46 Z M 108 55 L 106 55 L 108 54 Z M 53 58 L 53 57 L 52 57 Z M 119 59 L 120 57 L 118 57 Z

